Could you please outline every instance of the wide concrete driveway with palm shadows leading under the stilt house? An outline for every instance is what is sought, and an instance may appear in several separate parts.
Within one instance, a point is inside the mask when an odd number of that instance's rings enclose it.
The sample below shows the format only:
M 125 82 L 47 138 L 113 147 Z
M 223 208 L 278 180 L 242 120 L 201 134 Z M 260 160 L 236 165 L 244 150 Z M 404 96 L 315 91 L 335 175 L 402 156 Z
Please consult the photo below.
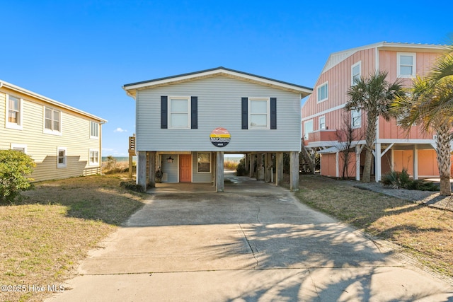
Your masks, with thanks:
M 225 193 L 152 190 L 47 301 L 453 301 L 451 282 L 288 190 L 226 182 Z

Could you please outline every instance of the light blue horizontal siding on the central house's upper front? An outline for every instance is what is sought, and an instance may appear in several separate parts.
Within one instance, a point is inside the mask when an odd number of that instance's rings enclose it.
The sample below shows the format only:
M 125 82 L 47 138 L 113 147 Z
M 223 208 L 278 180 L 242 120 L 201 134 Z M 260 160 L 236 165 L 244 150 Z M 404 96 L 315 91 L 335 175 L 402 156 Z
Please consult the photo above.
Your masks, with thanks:
M 161 129 L 161 95 L 197 96 L 198 129 Z M 243 97 L 277 98 L 277 129 L 241 129 Z M 138 151 L 240 153 L 301 148 L 299 93 L 215 76 L 140 90 L 136 101 Z M 223 148 L 210 142 L 210 133 L 217 127 L 224 127 L 231 134 L 231 141 Z

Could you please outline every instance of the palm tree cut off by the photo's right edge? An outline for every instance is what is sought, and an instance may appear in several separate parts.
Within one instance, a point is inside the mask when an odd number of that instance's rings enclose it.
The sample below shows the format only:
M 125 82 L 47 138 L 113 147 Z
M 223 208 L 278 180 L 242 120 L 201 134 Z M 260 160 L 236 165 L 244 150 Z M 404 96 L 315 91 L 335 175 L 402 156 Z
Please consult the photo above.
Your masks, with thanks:
M 425 78 L 418 76 L 406 95 L 392 104 L 401 126 L 407 131 L 420 124 L 424 132 L 436 134 L 437 167 L 440 194 L 452 194 L 450 185 L 451 145 L 453 124 L 453 46 L 432 66 Z

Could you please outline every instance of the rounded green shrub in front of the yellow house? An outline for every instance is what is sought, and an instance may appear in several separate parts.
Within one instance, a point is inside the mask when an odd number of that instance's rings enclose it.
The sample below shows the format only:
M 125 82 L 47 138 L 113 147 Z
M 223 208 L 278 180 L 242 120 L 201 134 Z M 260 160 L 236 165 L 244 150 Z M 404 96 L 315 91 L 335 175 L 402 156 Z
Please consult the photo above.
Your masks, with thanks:
M 32 186 L 32 178 L 26 178 L 35 167 L 33 159 L 14 150 L 0 150 L 0 202 L 14 202 L 21 191 Z

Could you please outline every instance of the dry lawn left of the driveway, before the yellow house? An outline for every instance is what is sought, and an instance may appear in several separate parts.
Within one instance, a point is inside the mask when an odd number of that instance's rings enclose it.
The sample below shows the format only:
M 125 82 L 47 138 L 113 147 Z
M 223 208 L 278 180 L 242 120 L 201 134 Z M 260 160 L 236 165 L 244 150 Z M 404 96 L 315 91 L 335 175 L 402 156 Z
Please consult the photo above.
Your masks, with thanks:
M 57 285 L 86 252 L 142 207 L 142 195 L 113 176 L 38 182 L 22 202 L 1 204 L 0 284 Z M 0 301 L 42 301 L 49 291 L 0 293 Z

